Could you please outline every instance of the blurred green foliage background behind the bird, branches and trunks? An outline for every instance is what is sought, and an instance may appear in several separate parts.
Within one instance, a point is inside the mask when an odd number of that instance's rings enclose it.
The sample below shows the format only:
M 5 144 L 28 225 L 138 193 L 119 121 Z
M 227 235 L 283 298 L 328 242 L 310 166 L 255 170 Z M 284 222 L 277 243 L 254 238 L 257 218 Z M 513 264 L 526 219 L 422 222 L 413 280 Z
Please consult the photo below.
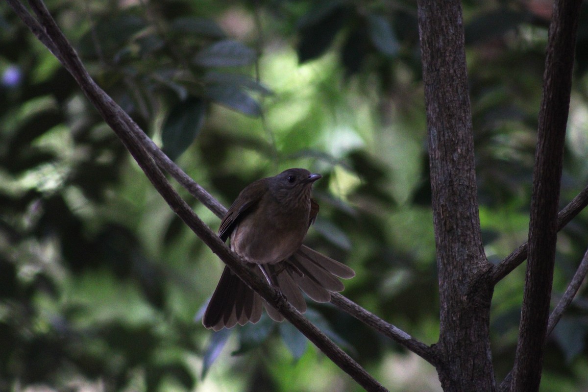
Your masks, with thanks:
M 437 340 L 414 2 L 48 6 L 96 81 L 225 205 L 287 167 L 322 173 L 309 246 L 356 270 L 345 282 L 350 299 Z M 543 1 L 464 4 L 480 220 L 493 262 L 527 236 L 550 11 Z M 0 47 L 0 390 L 360 390 L 287 323 L 203 329 L 222 263 L 6 2 Z M 586 6 L 576 59 L 562 206 L 588 180 Z M 559 237 L 554 300 L 587 246 L 582 213 Z M 519 267 L 494 294 L 499 380 L 513 363 L 523 280 Z M 588 386 L 586 294 L 549 340 L 543 391 Z M 439 390 L 424 361 L 334 307 L 310 304 L 308 316 L 390 390 Z

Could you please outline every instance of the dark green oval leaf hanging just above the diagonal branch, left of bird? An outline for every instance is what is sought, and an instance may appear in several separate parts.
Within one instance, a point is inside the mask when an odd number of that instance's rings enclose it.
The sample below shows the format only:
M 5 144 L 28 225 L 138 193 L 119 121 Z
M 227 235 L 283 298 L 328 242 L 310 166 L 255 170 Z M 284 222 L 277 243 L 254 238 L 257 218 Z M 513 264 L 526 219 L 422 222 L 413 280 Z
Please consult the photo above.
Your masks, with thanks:
M 192 144 L 202 128 L 206 105 L 201 98 L 191 96 L 174 106 L 163 123 L 161 139 L 163 152 L 175 160 Z

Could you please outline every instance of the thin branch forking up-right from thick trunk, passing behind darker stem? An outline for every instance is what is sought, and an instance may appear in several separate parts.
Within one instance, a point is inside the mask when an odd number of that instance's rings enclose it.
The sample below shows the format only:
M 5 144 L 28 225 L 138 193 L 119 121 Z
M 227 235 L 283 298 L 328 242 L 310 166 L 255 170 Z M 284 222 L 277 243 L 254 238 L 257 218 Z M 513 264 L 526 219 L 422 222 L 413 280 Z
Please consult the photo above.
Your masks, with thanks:
M 562 230 L 570 220 L 588 206 L 588 186 L 582 189 L 573 200 L 565 206 L 557 215 L 557 231 Z M 512 270 L 518 267 L 527 259 L 527 247 L 529 242 L 519 246 L 514 252 L 510 253 L 502 262 L 500 262 L 492 272 L 492 284 L 500 282 L 503 277 L 507 276 Z

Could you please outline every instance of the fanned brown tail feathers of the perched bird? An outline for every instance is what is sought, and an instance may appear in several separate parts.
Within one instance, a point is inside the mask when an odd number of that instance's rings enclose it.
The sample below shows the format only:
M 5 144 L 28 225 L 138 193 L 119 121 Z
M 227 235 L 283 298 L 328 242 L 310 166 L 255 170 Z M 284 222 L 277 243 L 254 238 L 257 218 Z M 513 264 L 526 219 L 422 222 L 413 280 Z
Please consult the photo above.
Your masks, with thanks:
M 265 274 L 261 268 L 265 269 Z M 254 271 L 260 277 L 269 276 L 272 284 L 280 289 L 300 313 L 306 311 L 306 301 L 300 290 L 317 302 L 329 302 L 330 293 L 340 292 L 345 288 L 338 277 L 349 279 L 355 276 L 355 272 L 345 264 L 306 246 L 300 247 L 283 262 L 259 265 Z M 275 321 L 283 321 L 284 316 L 275 307 L 225 267 L 206 308 L 202 324 L 208 329 L 218 331 L 237 323 L 256 323 L 261 317 L 262 304 L 269 317 Z

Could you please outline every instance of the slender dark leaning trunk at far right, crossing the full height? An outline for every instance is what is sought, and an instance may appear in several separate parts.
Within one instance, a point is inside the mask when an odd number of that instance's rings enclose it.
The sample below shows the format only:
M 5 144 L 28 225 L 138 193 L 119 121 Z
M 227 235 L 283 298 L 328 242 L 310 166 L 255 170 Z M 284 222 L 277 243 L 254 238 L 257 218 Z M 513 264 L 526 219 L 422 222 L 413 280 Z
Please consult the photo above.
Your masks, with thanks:
M 512 391 L 539 389 L 557 242 L 557 205 L 581 0 L 554 3 L 539 112 L 527 273 Z

